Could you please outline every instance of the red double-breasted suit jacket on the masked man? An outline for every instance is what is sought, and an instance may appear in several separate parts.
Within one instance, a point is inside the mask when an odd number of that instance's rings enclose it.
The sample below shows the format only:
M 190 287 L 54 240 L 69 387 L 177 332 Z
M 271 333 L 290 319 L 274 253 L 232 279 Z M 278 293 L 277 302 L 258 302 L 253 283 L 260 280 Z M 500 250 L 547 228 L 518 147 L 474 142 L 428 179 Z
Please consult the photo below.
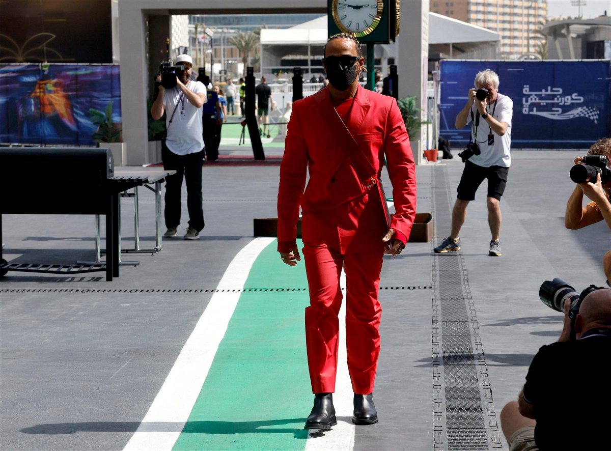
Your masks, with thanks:
M 357 174 L 346 152 L 360 152 L 353 141 L 331 125 L 337 115 L 326 89 L 293 105 L 280 165 L 278 192 L 278 250 L 295 245 L 301 206 L 304 243 L 351 249 L 383 249 L 387 232 L 384 210 Z M 337 120 L 335 120 L 337 124 Z M 360 145 L 378 178 L 384 157 L 395 204 L 390 227 L 409 238 L 415 216 L 415 164 L 397 101 L 371 90 L 357 89 L 346 127 Z M 306 169 L 309 182 L 305 188 Z M 376 199 L 377 198 L 377 199 Z M 376 204 L 376 208 L 371 204 Z

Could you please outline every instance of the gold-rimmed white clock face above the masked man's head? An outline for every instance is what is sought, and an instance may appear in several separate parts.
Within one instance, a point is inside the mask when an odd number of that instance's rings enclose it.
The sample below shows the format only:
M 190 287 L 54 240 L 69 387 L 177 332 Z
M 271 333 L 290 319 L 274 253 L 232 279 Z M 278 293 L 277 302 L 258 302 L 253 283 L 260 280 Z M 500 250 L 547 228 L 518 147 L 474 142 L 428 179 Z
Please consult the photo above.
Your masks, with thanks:
M 333 20 L 341 31 L 356 37 L 370 34 L 382 17 L 382 0 L 333 0 Z

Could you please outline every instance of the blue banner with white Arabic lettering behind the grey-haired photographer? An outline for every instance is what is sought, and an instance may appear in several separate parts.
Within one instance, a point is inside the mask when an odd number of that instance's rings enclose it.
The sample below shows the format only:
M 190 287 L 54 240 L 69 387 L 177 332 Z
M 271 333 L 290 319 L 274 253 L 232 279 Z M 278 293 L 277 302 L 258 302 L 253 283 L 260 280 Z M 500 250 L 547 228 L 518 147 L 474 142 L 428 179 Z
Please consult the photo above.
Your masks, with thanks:
M 499 92 L 513 100 L 514 149 L 588 149 L 611 136 L 611 62 L 442 61 L 439 134 L 462 147 L 470 126 L 456 130 L 475 75 L 499 75 Z

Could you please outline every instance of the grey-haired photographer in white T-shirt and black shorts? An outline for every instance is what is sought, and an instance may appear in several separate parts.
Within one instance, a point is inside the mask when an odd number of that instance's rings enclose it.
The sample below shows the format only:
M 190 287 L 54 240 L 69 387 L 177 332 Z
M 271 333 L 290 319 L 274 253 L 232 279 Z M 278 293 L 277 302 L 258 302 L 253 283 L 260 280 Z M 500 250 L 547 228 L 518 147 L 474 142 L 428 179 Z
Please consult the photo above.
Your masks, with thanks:
M 456 128 L 471 122 L 469 146 L 459 153 L 465 162 L 463 176 L 458 184 L 458 195 L 452 210 L 452 230 L 435 252 L 460 249 L 458 233 L 467 217 L 467 205 L 475 199 L 475 191 L 488 179 L 488 224 L 491 241 L 488 255 L 500 257 L 500 198 L 505 191 L 507 174 L 511 166 L 511 118 L 513 101 L 499 94 L 499 76 L 486 69 L 475 75 L 475 88 L 469 89 L 469 98 L 456 116 Z

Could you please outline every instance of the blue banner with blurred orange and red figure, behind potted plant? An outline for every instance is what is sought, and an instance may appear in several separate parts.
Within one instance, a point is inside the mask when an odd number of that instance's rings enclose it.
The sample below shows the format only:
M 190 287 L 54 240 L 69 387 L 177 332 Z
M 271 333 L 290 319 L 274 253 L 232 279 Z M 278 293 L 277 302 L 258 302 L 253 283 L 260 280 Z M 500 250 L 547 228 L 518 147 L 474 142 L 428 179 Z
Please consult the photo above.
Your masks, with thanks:
M 120 127 L 119 65 L 0 66 L 0 143 L 92 145 L 98 130 L 89 109 Z

